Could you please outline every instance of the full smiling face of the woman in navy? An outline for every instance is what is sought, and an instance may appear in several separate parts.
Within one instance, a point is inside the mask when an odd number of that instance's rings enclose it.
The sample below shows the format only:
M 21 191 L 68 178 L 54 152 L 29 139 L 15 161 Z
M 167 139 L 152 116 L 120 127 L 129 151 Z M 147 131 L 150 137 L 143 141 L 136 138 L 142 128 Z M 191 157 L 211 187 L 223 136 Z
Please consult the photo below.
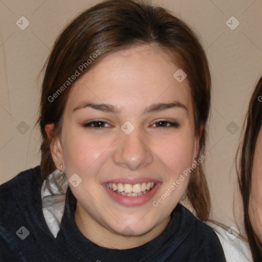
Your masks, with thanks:
M 74 174 L 75 215 L 94 232 L 142 235 L 166 226 L 183 197 L 198 138 L 187 79 L 173 77 L 178 69 L 144 45 L 107 56 L 75 82 L 52 156 L 68 179 Z

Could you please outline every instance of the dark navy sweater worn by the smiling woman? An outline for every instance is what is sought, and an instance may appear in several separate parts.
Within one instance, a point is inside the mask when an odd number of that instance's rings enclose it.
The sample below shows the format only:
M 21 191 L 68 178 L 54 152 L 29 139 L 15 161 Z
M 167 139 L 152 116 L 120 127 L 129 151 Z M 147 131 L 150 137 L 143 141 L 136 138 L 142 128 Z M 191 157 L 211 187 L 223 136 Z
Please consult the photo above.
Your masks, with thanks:
M 110 249 L 89 241 L 74 220 L 76 199 L 68 187 L 55 238 L 42 212 L 40 167 L 20 172 L 0 186 L 0 261 L 225 262 L 219 238 L 181 204 L 165 230 L 131 249 Z

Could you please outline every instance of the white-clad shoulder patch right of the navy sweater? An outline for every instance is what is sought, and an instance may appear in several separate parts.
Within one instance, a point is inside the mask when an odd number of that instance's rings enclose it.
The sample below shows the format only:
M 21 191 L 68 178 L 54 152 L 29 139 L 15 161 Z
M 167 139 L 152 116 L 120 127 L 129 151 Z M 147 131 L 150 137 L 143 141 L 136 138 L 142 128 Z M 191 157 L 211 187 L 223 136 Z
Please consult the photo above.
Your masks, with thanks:
M 208 223 L 216 232 L 222 244 L 226 259 L 228 262 L 248 262 L 252 261 L 251 252 L 248 243 L 237 237 L 237 232 L 233 233 L 229 229 Z

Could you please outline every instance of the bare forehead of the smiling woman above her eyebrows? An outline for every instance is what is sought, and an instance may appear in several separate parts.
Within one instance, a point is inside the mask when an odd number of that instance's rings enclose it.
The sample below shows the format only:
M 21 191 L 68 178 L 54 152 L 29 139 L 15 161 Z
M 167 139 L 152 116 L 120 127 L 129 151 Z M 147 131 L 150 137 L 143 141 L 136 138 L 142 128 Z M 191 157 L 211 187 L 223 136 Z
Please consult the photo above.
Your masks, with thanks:
M 103 58 L 74 83 L 66 110 L 84 100 L 137 108 L 153 102 L 177 100 L 192 107 L 187 79 L 178 82 L 179 70 L 168 54 L 150 45 L 118 51 Z

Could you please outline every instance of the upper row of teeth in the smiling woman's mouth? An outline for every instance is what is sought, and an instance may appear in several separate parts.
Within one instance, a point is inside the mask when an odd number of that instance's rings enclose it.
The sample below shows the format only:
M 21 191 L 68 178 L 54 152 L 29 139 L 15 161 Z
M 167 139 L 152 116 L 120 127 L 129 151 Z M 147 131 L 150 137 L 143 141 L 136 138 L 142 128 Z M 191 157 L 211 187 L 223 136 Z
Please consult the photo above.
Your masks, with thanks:
M 106 186 L 108 188 L 111 188 L 112 190 L 119 192 L 125 192 L 125 193 L 140 193 L 145 192 L 146 190 L 149 190 L 150 188 L 153 188 L 155 186 L 154 182 L 148 182 L 148 183 L 141 183 L 141 184 L 122 184 L 122 183 L 106 183 Z

